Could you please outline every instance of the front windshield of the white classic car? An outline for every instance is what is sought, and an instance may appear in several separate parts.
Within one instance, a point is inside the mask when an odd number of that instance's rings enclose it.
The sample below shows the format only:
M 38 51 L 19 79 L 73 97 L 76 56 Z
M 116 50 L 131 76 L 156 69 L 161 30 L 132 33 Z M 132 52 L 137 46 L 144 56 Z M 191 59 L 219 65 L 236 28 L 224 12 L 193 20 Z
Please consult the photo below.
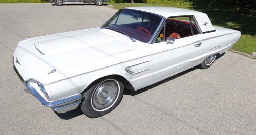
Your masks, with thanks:
M 101 28 L 109 28 L 148 43 L 162 20 L 161 16 L 137 10 L 122 9 L 113 15 Z

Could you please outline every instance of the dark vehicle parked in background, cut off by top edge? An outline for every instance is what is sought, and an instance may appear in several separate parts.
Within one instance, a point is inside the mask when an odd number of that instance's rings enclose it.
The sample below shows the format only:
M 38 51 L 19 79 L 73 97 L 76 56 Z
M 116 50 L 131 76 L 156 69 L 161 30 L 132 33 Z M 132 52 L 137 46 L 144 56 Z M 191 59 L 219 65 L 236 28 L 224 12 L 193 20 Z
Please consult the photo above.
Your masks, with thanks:
M 50 3 L 55 3 L 57 6 L 63 5 L 65 2 L 83 2 L 83 3 L 91 3 L 94 2 L 96 5 L 103 5 L 103 2 L 109 2 L 110 0 L 49 0 Z

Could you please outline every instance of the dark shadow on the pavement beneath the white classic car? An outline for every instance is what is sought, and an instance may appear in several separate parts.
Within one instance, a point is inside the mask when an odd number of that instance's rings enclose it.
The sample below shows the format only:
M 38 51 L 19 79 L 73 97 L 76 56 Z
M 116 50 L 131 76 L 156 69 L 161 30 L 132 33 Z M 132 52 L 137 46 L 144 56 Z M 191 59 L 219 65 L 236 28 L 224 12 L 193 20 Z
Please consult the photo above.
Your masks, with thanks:
M 218 59 L 219 59 L 220 57 L 222 57 L 224 54 L 225 54 L 225 53 L 222 53 L 221 55 L 217 55 L 216 60 L 218 60 Z M 194 71 L 194 70 L 196 70 L 196 69 L 198 69 L 197 66 L 195 66 L 195 67 L 193 67 L 193 68 L 191 68 L 191 69 L 188 69 L 188 70 L 186 70 L 186 71 L 183 71 L 183 72 L 181 72 L 181 73 L 179 73 L 179 74 L 177 74 L 177 75 L 174 75 L 174 76 L 172 76 L 172 77 L 169 77 L 169 78 L 167 78 L 167 79 L 164 79 L 164 80 L 162 80 L 162 81 L 160 81 L 160 82 L 157 82 L 157 83 L 155 83 L 155 84 L 152 84 L 152 85 L 150 85 L 150 86 L 147 86 L 147 87 L 145 87 L 145 88 L 139 89 L 138 91 L 129 91 L 129 89 L 125 89 L 125 91 L 124 91 L 123 94 L 124 94 L 124 95 L 135 96 L 135 95 L 137 95 L 137 94 L 140 94 L 140 93 L 143 93 L 143 92 L 145 92 L 145 91 L 148 91 L 148 90 L 150 90 L 150 89 L 152 89 L 152 88 L 154 88 L 154 87 L 156 87 L 156 86 L 159 86 L 159 85 L 161 85 L 161 84 L 163 84 L 163 83 L 165 83 L 165 82 L 168 82 L 168 81 L 170 81 L 170 80 L 173 80 L 173 79 L 175 79 L 175 78 L 177 78 L 177 77 L 180 77 L 180 76 L 182 76 L 182 75 L 184 75 L 184 74 L 186 74 L 186 73 L 189 73 L 189 72 L 191 72 L 191 71 Z M 55 113 L 59 118 L 61 118 L 61 119 L 63 119 L 63 120 L 69 120 L 69 119 L 75 118 L 75 117 L 77 117 L 77 116 L 84 115 L 83 112 L 80 110 L 79 107 L 77 107 L 77 108 L 74 109 L 74 110 L 70 110 L 70 111 L 68 111 L 68 112 L 66 112 L 66 113 L 57 113 L 56 111 L 54 111 L 54 113 Z M 84 115 L 84 116 L 86 116 L 86 115 Z

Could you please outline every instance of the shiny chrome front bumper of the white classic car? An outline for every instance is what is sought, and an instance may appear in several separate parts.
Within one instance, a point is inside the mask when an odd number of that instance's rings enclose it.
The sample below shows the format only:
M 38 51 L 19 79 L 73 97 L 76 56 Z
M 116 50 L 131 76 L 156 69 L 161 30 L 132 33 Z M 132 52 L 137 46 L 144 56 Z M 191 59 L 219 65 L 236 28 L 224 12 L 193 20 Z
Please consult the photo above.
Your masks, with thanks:
M 35 96 L 42 103 L 42 105 L 50 107 L 52 110 L 57 111 L 58 113 L 65 113 L 77 108 L 83 98 L 81 94 L 77 94 L 56 101 L 47 101 L 36 91 L 33 86 L 30 85 L 29 82 L 25 82 L 25 85 L 27 86 L 27 88 L 24 89 L 26 93 Z

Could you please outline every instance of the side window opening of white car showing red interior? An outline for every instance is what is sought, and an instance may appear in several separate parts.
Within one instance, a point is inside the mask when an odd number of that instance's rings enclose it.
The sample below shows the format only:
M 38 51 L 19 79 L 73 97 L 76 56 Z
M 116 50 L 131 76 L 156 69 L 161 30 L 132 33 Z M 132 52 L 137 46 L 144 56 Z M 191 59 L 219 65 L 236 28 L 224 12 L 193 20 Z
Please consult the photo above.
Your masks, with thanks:
M 166 20 L 166 37 L 169 36 L 178 39 L 198 33 L 192 16 L 170 17 Z

